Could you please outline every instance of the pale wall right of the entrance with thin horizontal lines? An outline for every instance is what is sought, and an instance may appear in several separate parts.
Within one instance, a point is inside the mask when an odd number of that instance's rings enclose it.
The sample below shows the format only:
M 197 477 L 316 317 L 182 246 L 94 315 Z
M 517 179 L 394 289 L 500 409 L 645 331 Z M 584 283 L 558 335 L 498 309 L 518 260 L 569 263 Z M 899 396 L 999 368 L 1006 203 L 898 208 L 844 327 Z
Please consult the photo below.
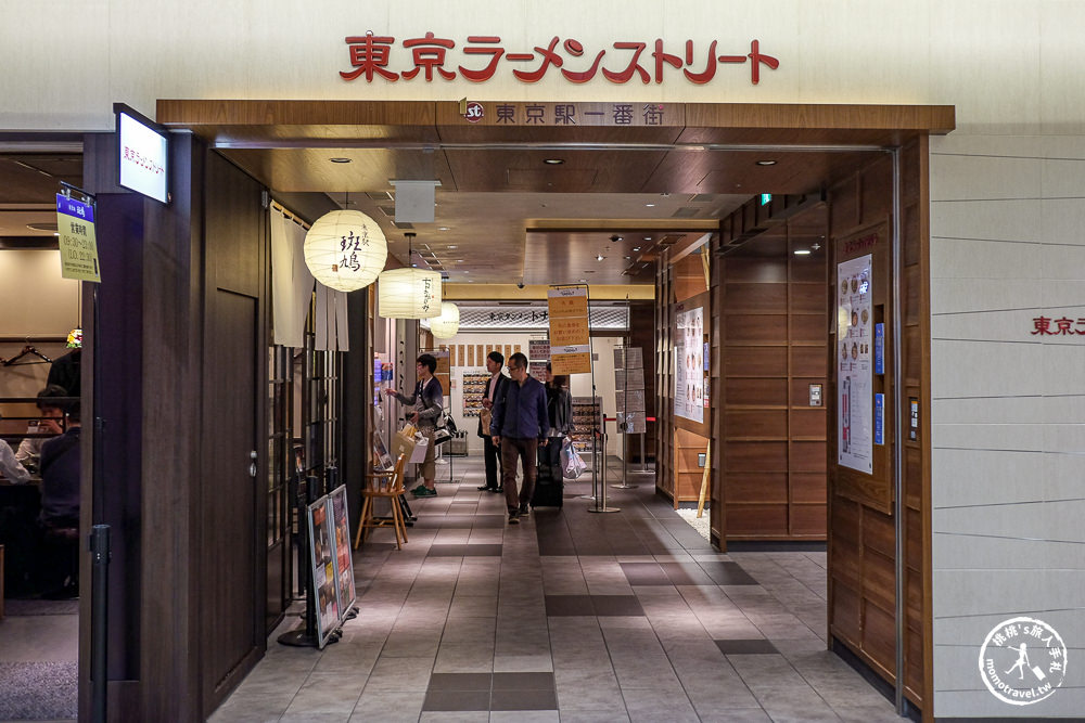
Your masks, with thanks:
M 1085 331 L 1085 137 L 953 134 L 931 195 L 935 714 L 1080 715 L 1085 336 L 1032 332 L 1063 315 Z M 1071 648 L 1062 689 L 1026 708 L 976 672 L 1019 615 Z

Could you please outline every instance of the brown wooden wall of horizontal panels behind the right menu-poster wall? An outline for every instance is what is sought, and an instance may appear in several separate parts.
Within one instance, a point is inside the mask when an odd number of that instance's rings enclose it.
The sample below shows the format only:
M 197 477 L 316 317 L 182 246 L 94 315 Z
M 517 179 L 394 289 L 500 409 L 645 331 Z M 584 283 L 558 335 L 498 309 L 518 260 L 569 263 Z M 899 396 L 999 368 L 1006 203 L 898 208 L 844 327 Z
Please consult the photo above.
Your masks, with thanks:
M 731 539 L 826 533 L 826 415 L 809 406 L 809 384 L 826 385 L 826 254 L 792 250 L 827 232 L 816 206 L 723 260 L 720 485 Z

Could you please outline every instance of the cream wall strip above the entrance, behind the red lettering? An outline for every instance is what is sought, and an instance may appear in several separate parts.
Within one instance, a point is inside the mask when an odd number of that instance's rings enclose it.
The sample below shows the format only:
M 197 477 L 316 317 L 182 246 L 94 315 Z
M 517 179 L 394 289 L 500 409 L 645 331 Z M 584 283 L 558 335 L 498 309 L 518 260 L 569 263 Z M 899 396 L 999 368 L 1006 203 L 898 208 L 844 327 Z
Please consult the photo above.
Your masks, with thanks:
M 954 104 L 961 130 L 1082 132 L 1085 3 L 1070 0 L 437 0 L 312 5 L 294 0 L 224 3 L 97 0 L 42 5 L 0 0 L 0 129 L 107 130 L 112 103 L 154 114 L 157 99 L 570 100 L 738 103 Z M 750 81 L 748 65 L 720 66 L 707 85 L 680 73 L 662 83 L 601 77 L 574 85 L 551 72 L 523 83 L 502 63 L 489 81 L 344 81 L 349 35 L 396 38 L 390 67 L 407 69 L 401 43 L 426 31 L 452 39 L 452 66 L 469 35 L 500 35 L 508 52 L 529 52 L 554 35 L 591 49 L 662 38 L 722 53 L 750 41 L 780 67 Z M 56 52 L 42 38 L 78 38 Z M 76 52 L 78 62 L 73 63 Z M 585 60 L 577 59 L 577 60 Z M 571 59 L 572 60 L 572 59 Z M 472 62 L 474 61 L 474 62 Z M 646 53 L 642 64 L 651 66 Z M 584 65 L 587 65 L 585 63 Z M 608 64 L 604 62 L 604 67 Z M 580 67 L 577 65 L 577 67 Z M 698 68 L 700 69 L 700 68 Z M 668 72 L 669 73 L 669 72 Z M 677 73 L 677 72 L 676 72 Z

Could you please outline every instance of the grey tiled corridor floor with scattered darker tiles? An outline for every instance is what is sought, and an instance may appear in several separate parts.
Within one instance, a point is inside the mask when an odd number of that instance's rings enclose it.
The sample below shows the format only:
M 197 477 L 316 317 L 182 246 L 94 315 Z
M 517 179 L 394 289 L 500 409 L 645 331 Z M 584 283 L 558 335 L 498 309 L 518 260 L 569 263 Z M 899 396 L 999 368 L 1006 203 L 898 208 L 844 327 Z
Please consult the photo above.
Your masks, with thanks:
M 378 530 L 355 554 L 342 641 L 269 643 L 213 721 L 901 720 L 825 649 L 825 553 L 717 554 L 650 475 L 620 513 L 577 481 L 509 527 L 456 472 L 401 551 Z

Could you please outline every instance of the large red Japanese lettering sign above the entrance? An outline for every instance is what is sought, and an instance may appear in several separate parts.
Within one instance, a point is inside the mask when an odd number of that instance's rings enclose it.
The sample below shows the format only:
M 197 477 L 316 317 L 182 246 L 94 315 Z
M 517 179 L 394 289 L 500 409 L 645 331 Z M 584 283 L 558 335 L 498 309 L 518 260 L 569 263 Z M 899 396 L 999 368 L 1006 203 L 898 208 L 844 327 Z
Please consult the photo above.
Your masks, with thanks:
M 403 40 L 403 48 L 410 51 L 409 61 L 406 53 L 395 52 L 396 39 L 393 36 L 376 36 L 369 31 L 347 36 L 345 40 L 350 69 L 340 70 L 340 76 L 344 80 L 365 76 L 366 82 L 373 82 L 374 78 L 386 82 L 400 79 L 433 82 L 434 79 L 454 80 L 457 75 L 471 82 L 485 82 L 499 70 L 511 70 L 521 82 L 538 82 L 550 74 L 577 85 L 596 78 L 617 85 L 630 80 L 648 85 L 679 77 L 704 85 L 716 77 L 716 70 L 722 65 L 748 65 L 750 83 L 756 86 L 761 82 L 763 69 L 776 70 L 780 67 L 779 60 L 761 51 L 761 42 L 756 39 L 741 49 L 725 49 L 718 40 L 707 44 L 692 40 L 686 40 L 684 44 L 667 44 L 659 38 L 654 41 L 622 40 L 609 48 L 585 48 L 574 38 L 562 40 L 553 36 L 544 41 L 545 47 L 538 44 L 524 52 L 523 48 L 506 49 L 499 36 L 470 35 L 465 43 L 460 43 L 458 57 L 454 60 L 449 57 L 449 51 L 456 49 L 457 41 L 426 33 L 421 38 Z M 728 54 L 726 50 L 741 52 Z M 403 62 L 390 68 L 394 54 L 396 60 L 403 57 Z M 727 69 L 722 70 L 722 76 L 727 73 Z M 727 76 L 735 77 L 738 76 Z

